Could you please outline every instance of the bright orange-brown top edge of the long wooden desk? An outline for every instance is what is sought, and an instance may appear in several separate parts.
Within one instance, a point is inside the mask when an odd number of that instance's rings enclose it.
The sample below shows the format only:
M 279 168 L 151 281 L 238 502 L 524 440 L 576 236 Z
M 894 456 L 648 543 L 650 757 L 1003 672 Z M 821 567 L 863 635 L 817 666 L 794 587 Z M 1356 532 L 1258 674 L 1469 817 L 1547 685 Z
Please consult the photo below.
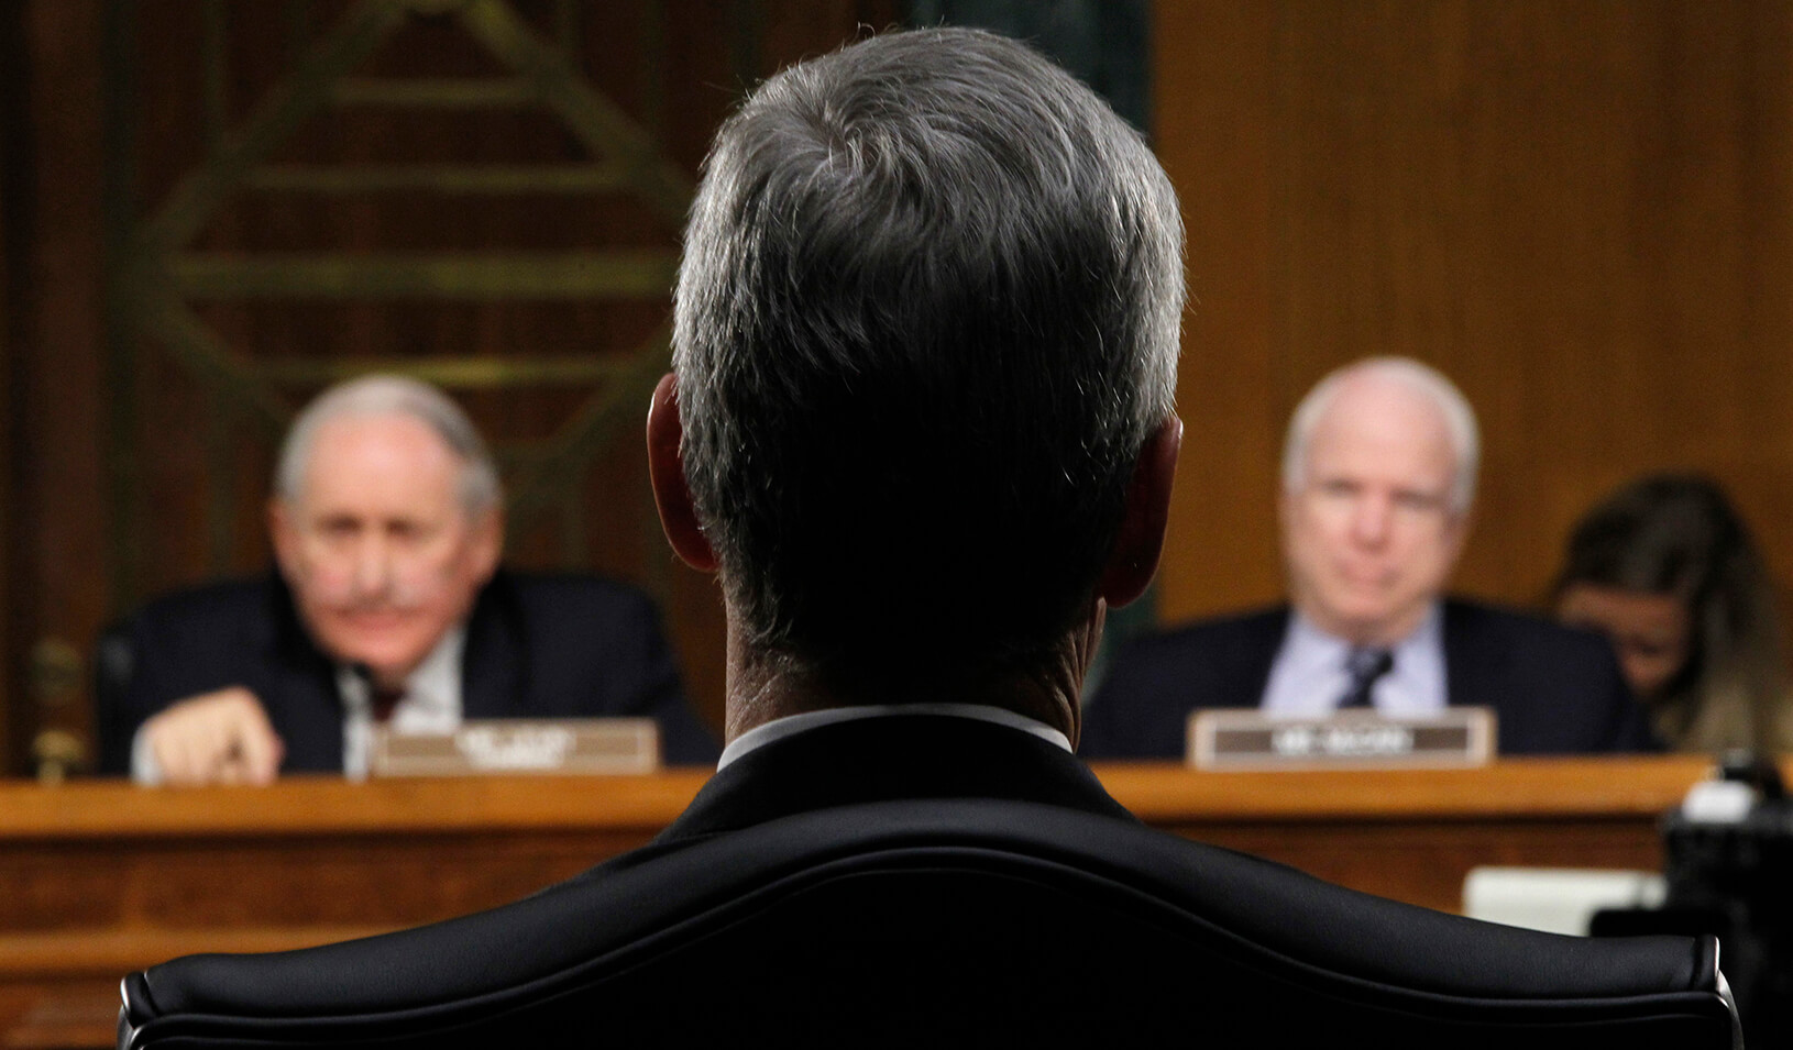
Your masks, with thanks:
M 1449 770 L 1307 772 L 1196 772 L 1174 763 L 1139 762 L 1097 763 L 1096 772 L 1146 822 L 1180 824 L 1187 819 L 1655 817 L 1678 805 L 1709 767 L 1696 756 L 1615 756 L 1510 758 Z M 706 779 L 706 770 L 672 769 L 653 776 L 368 783 L 298 776 L 265 788 L 140 788 L 117 779 L 57 787 L 0 781 L 0 842 L 658 831 Z

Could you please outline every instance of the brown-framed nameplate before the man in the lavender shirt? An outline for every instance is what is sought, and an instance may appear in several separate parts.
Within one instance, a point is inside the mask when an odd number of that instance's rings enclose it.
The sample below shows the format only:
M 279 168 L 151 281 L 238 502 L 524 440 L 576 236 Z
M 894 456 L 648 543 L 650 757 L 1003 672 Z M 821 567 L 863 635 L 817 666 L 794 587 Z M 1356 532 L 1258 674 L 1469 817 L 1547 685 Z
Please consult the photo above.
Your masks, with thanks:
M 1196 769 L 1451 769 L 1494 758 L 1494 711 L 1445 708 L 1425 719 L 1343 711 L 1330 719 L 1271 719 L 1217 710 L 1189 717 Z

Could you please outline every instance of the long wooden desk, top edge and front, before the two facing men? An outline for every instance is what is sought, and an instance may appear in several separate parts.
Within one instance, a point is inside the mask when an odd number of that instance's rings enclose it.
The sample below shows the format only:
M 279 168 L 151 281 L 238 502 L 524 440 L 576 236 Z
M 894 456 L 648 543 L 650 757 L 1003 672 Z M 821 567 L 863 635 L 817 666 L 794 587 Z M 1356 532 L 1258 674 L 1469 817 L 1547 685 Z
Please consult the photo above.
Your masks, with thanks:
M 1659 869 L 1657 821 L 1707 767 L 1653 756 L 1468 770 L 1096 769 L 1153 826 L 1456 910 L 1481 864 Z M 174 955 L 296 948 L 522 898 L 647 842 L 705 779 L 0 783 L 0 1046 L 41 1043 L 41 1023 L 20 1025 L 32 1011 L 115 1002 L 122 973 Z

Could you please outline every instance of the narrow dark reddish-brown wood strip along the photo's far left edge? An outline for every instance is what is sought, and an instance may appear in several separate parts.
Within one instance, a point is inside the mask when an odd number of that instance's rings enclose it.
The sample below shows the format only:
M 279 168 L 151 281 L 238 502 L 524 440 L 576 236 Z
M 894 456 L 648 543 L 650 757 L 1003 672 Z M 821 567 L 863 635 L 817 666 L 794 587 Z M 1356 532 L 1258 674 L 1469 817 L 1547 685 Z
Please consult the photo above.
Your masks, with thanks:
M 7 156 L 7 213 L 20 219 L 9 245 L 18 272 L 7 308 L 13 355 L 14 529 L 7 618 L 9 719 L 4 762 L 29 769 L 39 726 L 82 726 L 81 697 L 39 702 L 36 656 L 57 643 L 86 645 L 106 615 L 106 514 L 100 498 L 102 149 L 100 13 L 97 4 L 23 4 L 18 20 L 27 81 L 27 127 Z M 41 643 L 52 643 L 45 649 Z M 66 652 L 66 650 L 65 650 Z M 52 697 L 61 701 L 63 697 Z

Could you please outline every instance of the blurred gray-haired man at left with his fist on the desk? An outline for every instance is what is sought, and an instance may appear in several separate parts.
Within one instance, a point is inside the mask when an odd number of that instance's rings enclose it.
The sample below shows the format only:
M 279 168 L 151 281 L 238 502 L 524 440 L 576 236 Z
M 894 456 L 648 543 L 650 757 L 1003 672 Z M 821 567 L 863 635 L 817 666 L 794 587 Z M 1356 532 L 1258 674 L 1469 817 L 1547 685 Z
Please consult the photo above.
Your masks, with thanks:
M 375 726 L 651 717 L 667 762 L 714 762 L 647 595 L 500 566 L 504 489 L 466 412 L 368 374 L 287 432 L 274 568 L 151 602 L 100 704 L 102 772 L 140 783 L 360 776 Z

